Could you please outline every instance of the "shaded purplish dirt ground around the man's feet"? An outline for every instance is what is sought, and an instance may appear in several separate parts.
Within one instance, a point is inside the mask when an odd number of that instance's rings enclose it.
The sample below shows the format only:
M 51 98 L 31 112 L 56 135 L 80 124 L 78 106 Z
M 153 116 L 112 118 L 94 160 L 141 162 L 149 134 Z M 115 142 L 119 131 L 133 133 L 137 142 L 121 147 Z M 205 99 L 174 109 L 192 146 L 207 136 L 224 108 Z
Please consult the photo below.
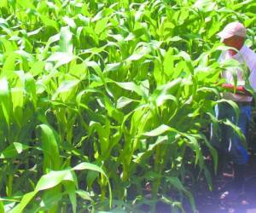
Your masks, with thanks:
M 227 165 L 222 176 L 213 179 L 215 190 L 210 192 L 206 184 L 195 190 L 195 203 L 199 213 L 256 213 L 256 154 L 252 154 L 246 169 L 246 183 L 244 193 L 239 199 L 230 201 L 221 199 L 221 190 L 233 178 L 231 165 Z M 186 212 L 191 212 L 186 210 Z

